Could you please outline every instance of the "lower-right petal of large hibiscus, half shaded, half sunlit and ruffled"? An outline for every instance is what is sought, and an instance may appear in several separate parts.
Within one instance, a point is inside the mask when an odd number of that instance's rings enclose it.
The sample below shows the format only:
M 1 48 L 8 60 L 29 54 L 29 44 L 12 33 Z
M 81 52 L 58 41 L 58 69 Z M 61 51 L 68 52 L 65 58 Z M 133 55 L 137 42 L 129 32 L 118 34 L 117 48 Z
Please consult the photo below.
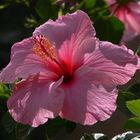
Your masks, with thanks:
M 61 117 L 83 125 L 92 125 L 99 120 L 108 119 L 115 111 L 117 90 L 107 92 L 101 85 L 96 87 L 91 77 L 89 71 L 76 71 L 73 83 L 63 86 L 65 100 Z

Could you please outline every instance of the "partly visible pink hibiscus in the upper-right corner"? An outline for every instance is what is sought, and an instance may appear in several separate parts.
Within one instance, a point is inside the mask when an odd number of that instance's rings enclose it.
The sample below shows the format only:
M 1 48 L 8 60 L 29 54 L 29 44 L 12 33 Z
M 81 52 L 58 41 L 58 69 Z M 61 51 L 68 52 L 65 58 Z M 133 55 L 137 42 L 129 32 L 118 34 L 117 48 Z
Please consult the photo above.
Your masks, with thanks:
M 125 25 L 122 40 L 128 41 L 140 35 L 140 3 L 135 0 L 107 0 L 113 15 Z

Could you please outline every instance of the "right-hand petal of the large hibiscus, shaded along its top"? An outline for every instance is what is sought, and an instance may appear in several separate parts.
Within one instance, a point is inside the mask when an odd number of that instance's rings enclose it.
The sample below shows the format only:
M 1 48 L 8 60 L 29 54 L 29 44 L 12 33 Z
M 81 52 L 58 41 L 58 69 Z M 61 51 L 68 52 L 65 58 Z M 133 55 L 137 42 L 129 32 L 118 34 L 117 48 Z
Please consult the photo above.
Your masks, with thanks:
M 92 54 L 86 55 L 85 65 L 102 73 L 101 83 L 106 83 L 105 79 L 108 77 L 108 85 L 111 82 L 112 85 L 122 85 L 127 83 L 138 69 L 138 57 L 124 46 L 100 42 L 100 46 Z

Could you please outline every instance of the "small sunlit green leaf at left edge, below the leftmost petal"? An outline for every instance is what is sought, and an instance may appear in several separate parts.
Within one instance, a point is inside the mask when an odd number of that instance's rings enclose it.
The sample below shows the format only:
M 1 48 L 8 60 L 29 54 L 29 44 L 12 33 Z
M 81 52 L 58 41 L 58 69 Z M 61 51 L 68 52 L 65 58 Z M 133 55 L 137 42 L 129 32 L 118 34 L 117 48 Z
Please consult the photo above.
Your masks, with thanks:
M 10 96 L 10 89 L 4 85 L 4 84 L 0 84 L 0 98 L 2 99 L 8 99 L 8 97 Z

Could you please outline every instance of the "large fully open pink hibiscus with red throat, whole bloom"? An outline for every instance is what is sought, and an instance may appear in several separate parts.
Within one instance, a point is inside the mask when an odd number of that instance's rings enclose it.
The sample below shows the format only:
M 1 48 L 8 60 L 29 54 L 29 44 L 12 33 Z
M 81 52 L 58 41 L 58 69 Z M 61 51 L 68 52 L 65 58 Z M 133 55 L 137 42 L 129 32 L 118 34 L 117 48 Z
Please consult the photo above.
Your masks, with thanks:
M 99 41 L 87 14 L 77 11 L 14 44 L 0 81 L 22 78 L 7 103 L 18 122 L 37 127 L 59 115 L 92 125 L 115 111 L 116 85 L 131 79 L 137 63 L 132 51 Z

